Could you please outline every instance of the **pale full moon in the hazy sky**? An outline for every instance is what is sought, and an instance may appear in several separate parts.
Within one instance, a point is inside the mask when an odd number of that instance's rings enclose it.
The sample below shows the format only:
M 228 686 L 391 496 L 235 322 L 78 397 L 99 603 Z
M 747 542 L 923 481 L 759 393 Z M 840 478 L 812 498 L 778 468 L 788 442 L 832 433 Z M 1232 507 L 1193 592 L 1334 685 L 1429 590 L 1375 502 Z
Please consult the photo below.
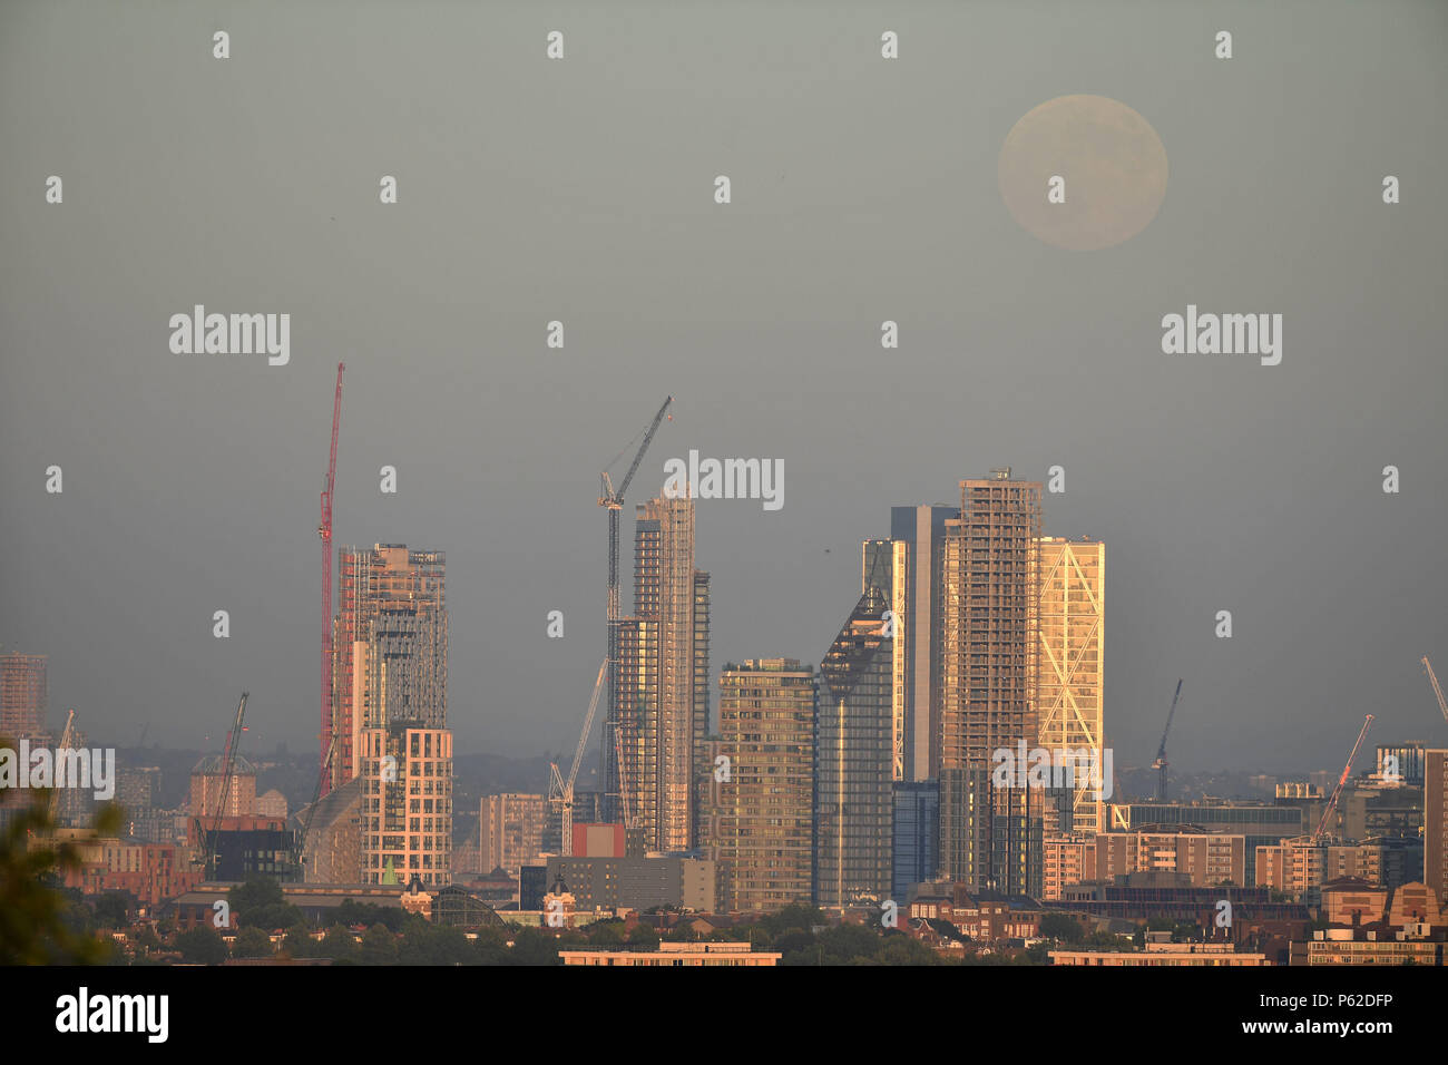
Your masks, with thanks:
M 1027 232 L 1056 248 L 1098 251 L 1129 241 L 1157 216 L 1167 151 L 1127 104 L 1060 96 L 1015 123 L 999 177 L 1001 199 Z

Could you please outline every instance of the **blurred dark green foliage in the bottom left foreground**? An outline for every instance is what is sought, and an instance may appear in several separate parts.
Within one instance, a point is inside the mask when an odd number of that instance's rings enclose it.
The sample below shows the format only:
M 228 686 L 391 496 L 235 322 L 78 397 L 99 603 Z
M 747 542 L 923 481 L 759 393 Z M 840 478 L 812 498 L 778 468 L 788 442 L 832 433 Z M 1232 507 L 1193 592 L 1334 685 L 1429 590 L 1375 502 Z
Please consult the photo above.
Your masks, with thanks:
M 0 746 L 7 745 L 0 739 Z M 98 965 L 110 955 L 77 920 L 61 890 L 61 875 L 81 868 L 77 843 L 85 840 L 51 838 L 49 797 L 49 790 L 33 793 L 30 806 L 0 833 L 0 965 Z M 87 839 L 119 830 L 120 809 L 107 804 L 96 813 Z

